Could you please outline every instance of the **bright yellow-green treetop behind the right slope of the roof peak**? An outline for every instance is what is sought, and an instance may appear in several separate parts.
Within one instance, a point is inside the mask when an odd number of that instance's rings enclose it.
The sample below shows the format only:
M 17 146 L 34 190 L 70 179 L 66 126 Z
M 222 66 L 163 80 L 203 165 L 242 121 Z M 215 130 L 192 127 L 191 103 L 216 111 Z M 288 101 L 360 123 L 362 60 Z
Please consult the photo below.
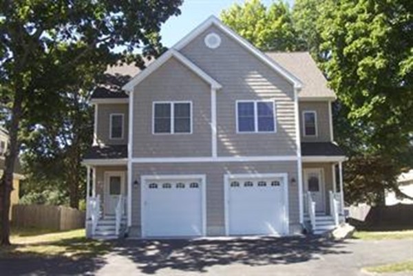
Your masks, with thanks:
M 235 3 L 221 12 L 221 19 L 255 47 L 263 51 L 304 50 L 293 25 L 293 16 L 285 2 L 266 7 L 260 0 Z

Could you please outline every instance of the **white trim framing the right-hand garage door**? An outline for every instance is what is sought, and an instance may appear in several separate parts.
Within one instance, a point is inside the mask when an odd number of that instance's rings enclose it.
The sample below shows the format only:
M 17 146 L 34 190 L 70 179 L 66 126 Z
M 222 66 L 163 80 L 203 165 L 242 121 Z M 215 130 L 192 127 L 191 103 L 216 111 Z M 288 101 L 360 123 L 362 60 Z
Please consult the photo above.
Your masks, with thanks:
M 224 175 L 224 215 L 225 215 L 225 235 L 229 235 L 229 182 L 233 179 L 261 179 L 261 178 L 282 178 L 284 189 L 284 233 L 289 233 L 289 211 L 288 211 L 288 173 L 239 173 Z

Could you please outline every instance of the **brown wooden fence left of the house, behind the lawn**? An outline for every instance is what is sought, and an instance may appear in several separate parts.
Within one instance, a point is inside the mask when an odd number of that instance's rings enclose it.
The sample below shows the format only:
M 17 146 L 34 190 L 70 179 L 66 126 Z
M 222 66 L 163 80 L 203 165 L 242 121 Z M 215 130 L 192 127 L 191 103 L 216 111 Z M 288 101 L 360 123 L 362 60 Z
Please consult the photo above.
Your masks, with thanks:
M 66 206 L 13 205 L 12 224 L 19 227 L 38 227 L 71 230 L 85 227 L 85 212 Z

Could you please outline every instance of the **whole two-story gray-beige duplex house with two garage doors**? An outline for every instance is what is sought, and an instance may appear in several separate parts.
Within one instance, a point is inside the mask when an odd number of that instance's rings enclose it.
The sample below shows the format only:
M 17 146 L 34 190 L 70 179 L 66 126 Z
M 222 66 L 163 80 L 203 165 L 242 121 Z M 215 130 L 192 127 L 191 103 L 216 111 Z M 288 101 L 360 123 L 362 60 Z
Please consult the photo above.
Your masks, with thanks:
M 210 17 L 145 70 L 110 72 L 92 96 L 83 160 L 89 237 L 294 235 L 343 222 L 336 96 L 308 53 L 260 52 Z

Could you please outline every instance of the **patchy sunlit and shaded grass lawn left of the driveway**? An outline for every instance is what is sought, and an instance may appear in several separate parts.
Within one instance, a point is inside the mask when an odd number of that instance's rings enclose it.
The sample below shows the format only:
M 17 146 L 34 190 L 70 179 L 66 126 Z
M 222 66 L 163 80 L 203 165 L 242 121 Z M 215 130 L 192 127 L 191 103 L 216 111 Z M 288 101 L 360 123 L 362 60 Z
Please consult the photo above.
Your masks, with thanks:
M 0 247 L 0 258 L 64 256 L 77 259 L 104 255 L 112 248 L 110 242 L 87 239 L 84 229 L 61 232 L 12 229 L 10 242 L 12 246 Z

